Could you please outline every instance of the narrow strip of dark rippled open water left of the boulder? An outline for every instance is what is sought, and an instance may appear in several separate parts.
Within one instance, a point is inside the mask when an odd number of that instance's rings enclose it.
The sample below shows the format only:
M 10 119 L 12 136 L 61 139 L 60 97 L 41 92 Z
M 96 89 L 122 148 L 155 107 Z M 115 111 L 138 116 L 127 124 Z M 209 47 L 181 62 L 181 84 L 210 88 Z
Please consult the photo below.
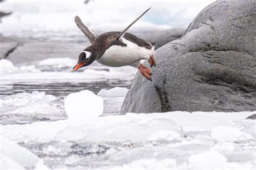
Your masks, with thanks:
M 32 91 L 45 91 L 56 97 L 64 98 L 70 93 L 81 90 L 90 90 L 97 94 L 101 89 L 110 89 L 114 87 L 130 88 L 131 81 L 126 80 L 105 80 L 90 82 L 14 82 L 10 84 L 0 84 L 0 98 L 16 93 L 32 93 Z

